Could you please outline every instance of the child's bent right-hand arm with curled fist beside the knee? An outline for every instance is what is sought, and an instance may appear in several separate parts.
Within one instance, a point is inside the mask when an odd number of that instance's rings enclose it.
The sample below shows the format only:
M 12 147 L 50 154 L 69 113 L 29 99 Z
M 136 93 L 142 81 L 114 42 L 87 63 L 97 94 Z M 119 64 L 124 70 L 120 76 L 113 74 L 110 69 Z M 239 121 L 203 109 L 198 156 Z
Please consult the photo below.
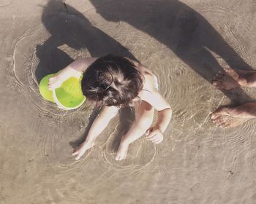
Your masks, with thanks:
M 149 140 L 157 141 L 157 143 L 159 143 L 163 139 L 162 133 L 167 129 L 173 111 L 170 108 L 169 103 L 167 103 L 165 98 L 163 98 L 157 90 L 152 92 L 145 91 L 141 97 L 143 101 L 148 102 L 158 111 L 157 122 L 154 127 L 148 129 L 146 136 Z

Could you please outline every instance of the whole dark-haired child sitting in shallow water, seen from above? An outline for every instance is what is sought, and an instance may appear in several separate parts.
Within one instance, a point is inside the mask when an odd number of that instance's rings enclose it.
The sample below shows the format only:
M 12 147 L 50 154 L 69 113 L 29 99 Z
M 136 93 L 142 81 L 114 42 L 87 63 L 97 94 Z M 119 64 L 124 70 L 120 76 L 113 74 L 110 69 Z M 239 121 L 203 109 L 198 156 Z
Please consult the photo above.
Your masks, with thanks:
M 75 160 L 79 160 L 86 150 L 93 146 L 94 140 L 107 127 L 110 119 L 124 106 L 135 106 L 135 122 L 121 138 L 116 160 L 124 160 L 129 144 L 143 134 L 154 144 L 163 140 L 172 110 L 158 92 L 157 77 L 148 68 L 128 58 L 114 55 L 81 58 L 50 78 L 49 89 L 60 87 L 62 82 L 81 71 L 83 95 L 87 100 L 102 106 L 102 109 L 91 125 L 86 140 L 74 149 L 72 155 L 76 156 Z M 156 124 L 151 127 L 154 109 L 158 111 L 158 118 Z

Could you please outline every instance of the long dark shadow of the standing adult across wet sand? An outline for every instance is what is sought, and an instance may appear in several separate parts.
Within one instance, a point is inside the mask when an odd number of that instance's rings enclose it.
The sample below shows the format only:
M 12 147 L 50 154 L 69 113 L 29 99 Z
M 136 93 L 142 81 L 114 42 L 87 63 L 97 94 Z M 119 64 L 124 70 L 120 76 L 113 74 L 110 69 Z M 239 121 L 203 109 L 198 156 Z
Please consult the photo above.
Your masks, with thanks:
M 129 23 L 154 37 L 210 83 L 217 72 L 223 70 L 211 52 L 219 55 L 231 68 L 252 69 L 205 17 L 181 1 L 90 1 L 105 20 Z M 241 98 L 251 99 L 241 89 L 235 92 Z M 223 93 L 236 102 L 233 93 Z

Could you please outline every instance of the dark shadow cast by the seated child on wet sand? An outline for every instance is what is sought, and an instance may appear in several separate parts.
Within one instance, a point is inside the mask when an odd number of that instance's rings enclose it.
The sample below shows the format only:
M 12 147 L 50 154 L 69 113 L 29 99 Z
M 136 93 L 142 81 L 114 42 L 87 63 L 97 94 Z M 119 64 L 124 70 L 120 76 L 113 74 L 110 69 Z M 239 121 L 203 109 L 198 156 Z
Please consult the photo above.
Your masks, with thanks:
M 50 37 L 37 45 L 36 55 L 39 58 L 39 64 L 35 70 L 37 82 L 40 82 L 43 76 L 56 73 L 72 63 L 74 59 L 69 57 L 69 52 L 77 53 L 88 50 L 92 57 L 102 57 L 113 53 L 137 60 L 126 47 L 93 26 L 83 14 L 65 4 L 64 1 L 48 1 L 42 12 L 42 23 L 50 33 Z M 78 55 L 77 58 L 79 57 Z M 121 124 L 118 128 L 118 138 L 121 137 L 122 131 L 127 129 L 127 120 L 131 115 L 127 114 L 127 111 L 123 113 L 120 111 L 119 114 Z M 85 133 L 77 141 L 71 141 L 69 143 L 71 146 L 78 146 L 85 140 L 98 114 L 99 108 L 96 107 L 89 117 Z

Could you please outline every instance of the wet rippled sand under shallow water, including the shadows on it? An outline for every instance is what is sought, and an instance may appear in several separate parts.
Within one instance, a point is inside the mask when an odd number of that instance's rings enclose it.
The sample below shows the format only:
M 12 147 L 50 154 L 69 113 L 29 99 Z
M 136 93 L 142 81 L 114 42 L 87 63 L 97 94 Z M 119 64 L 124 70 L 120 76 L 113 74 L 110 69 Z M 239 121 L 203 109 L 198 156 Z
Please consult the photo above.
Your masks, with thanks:
M 0 203 L 255 203 L 255 120 L 220 129 L 209 114 L 255 100 L 221 92 L 222 66 L 255 69 L 256 2 L 214 0 L 0 2 Z M 124 109 L 91 151 L 72 157 L 97 109 L 62 111 L 38 91 L 76 58 L 140 60 L 159 78 L 173 119 L 159 145 L 142 137 L 114 160 L 134 118 Z

